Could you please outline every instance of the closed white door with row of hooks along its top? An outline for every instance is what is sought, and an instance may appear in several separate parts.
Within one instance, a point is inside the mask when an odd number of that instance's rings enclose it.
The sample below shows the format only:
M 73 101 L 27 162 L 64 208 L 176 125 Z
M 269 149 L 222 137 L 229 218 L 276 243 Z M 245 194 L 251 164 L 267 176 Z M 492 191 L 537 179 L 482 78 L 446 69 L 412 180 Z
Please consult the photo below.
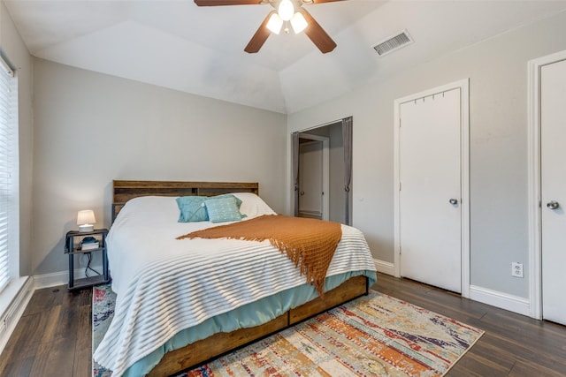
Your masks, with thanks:
M 467 84 L 467 81 L 466 81 Z M 440 90 L 442 89 L 442 90 Z M 463 87 L 396 102 L 400 275 L 463 290 Z M 466 170 L 467 171 L 467 170 Z M 467 205 L 467 203 L 466 203 Z

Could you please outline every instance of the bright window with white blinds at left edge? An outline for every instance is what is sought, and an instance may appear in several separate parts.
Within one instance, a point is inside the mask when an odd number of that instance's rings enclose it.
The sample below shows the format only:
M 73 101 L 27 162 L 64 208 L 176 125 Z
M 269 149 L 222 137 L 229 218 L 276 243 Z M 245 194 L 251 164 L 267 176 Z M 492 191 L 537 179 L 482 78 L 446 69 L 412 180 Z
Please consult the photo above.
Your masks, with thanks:
M 19 276 L 18 79 L 0 57 L 0 291 Z

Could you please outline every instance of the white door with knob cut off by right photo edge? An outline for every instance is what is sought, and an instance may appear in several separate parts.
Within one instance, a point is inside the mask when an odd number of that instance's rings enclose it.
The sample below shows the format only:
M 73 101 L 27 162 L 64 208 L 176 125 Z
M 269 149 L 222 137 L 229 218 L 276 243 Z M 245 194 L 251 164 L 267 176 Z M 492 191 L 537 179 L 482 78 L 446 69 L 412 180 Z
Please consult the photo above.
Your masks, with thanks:
M 540 68 L 542 316 L 566 325 L 566 60 Z

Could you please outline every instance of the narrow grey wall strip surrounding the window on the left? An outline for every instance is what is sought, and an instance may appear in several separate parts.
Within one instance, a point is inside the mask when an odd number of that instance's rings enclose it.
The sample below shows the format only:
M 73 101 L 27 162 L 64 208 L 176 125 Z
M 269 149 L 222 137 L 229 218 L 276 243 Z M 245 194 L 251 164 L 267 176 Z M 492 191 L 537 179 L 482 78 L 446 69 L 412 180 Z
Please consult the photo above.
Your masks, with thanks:
M 33 110 L 32 57 L 4 2 L 0 2 L 0 47 L 16 66 L 19 108 L 19 274 L 31 275 Z

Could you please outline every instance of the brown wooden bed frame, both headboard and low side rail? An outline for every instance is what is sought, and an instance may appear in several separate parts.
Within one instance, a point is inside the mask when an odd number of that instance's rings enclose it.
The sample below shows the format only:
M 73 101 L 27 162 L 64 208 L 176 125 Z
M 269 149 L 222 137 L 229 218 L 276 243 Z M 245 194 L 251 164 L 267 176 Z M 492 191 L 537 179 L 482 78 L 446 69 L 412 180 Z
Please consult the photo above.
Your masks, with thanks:
M 257 183 L 233 182 L 167 182 L 167 181 L 124 181 L 113 182 L 112 222 L 121 207 L 140 196 L 214 196 L 228 192 L 259 193 Z M 355 276 L 339 287 L 325 293 L 325 298 L 297 306 L 287 313 L 254 328 L 241 328 L 231 333 L 218 333 L 206 339 L 188 344 L 175 351 L 167 352 L 159 364 L 149 372 L 149 377 L 163 377 L 180 373 L 205 361 L 233 351 L 264 336 L 269 336 L 284 328 L 306 320 L 318 313 L 323 313 L 334 306 L 341 305 L 353 298 L 368 294 L 369 282 L 365 276 Z

